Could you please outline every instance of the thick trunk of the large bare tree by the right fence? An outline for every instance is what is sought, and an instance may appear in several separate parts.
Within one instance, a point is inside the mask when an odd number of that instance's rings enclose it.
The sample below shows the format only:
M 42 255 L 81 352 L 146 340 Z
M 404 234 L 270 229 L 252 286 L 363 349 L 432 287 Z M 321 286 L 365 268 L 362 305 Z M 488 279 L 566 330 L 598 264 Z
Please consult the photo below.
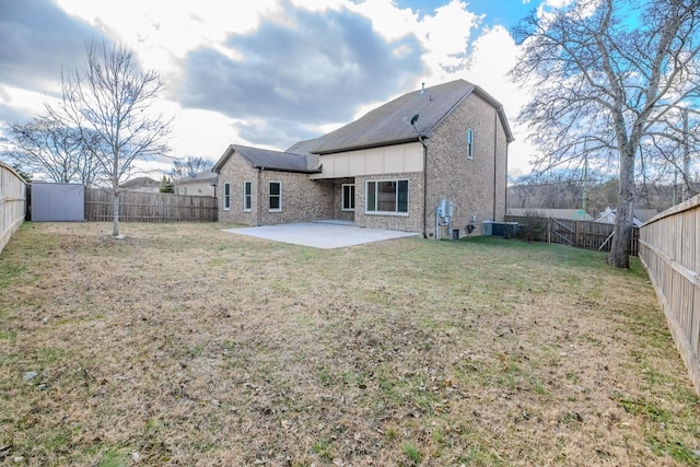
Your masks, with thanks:
M 630 242 L 634 225 L 634 152 L 620 154 L 620 187 L 617 197 L 617 212 L 615 214 L 615 236 L 608 264 L 616 268 L 630 267 Z

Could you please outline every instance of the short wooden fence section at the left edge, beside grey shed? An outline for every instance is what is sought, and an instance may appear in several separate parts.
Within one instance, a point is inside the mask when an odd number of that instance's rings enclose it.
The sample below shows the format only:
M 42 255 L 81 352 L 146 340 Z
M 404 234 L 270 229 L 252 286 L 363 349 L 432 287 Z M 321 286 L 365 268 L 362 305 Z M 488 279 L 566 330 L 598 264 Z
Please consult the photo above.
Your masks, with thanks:
M 0 252 L 26 215 L 26 183 L 12 167 L 0 162 Z

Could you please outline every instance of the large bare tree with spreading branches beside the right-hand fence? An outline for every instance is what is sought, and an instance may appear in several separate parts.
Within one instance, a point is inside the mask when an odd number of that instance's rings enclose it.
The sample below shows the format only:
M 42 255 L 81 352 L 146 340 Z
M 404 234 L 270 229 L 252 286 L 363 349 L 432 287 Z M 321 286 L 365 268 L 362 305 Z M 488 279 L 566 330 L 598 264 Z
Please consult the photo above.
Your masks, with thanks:
M 532 91 L 521 118 L 537 135 L 540 165 L 586 157 L 619 172 L 616 267 L 629 267 L 637 170 L 664 154 L 679 161 L 672 147 L 699 141 L 688 105 L 700 97 L 699 21 L 700 0 L 578 0 L 514 30 L 523 51 L 512 75 Z

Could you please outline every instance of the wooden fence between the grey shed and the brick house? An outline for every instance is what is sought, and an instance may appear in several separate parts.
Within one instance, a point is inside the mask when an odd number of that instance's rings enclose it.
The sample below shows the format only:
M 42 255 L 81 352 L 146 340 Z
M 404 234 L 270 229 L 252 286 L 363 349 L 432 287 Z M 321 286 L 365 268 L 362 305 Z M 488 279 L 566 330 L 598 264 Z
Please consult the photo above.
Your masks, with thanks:
M 101 189 L 85 189 L 85 219 L 112 221 L 113 196 Z M 164 192 L 124 191 L 119 196 L 119 220 L 136 222 L 215 222 L 217 198 Z

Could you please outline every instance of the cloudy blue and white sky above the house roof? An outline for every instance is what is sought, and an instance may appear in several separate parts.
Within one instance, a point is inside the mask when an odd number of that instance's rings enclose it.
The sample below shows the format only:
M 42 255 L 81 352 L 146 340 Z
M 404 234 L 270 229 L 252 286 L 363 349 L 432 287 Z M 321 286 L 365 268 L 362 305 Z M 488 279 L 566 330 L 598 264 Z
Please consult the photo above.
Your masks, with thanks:
M 521 175 L 533 149 L 516 118 L 526 96 L 508 78 L 509 30 L 568 1 L 0 0 L 0 131 L 59 97 L 61 70 L 105 40 L 170 83 L 154 112 L 175 117 L 174 156 L 215 161 L 230 143 L 283 150 L 423 82 L 465 79 L 504 105 L 516 138 L 509 170 Z

